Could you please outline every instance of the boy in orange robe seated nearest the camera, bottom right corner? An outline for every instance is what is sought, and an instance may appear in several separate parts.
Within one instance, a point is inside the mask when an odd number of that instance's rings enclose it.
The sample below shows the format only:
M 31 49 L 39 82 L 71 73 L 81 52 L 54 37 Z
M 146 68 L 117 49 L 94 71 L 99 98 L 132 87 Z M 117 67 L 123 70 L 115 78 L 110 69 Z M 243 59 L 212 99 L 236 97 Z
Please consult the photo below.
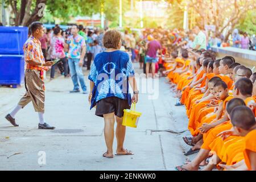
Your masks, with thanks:
M 226 170 L 256 171 L 256 122 L 254 113 L 249 107 L 237 106 L 232 110 L 231 121 L 233 129 L 224 131 L 220 135 L 224 139 L 232 135 L 245 137 L 244 160 L 233 166 L 226 166 L 224 164 L 220 164 L 220 166 Z

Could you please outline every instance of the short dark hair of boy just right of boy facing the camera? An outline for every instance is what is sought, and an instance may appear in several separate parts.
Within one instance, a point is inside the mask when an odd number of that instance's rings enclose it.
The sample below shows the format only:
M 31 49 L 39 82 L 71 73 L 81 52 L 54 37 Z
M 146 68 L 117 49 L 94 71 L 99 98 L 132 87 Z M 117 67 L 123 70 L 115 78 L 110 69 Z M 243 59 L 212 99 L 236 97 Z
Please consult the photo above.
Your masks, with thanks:
M 243 96 L 253 93 L 253 82 L 249 78 L 240 78 L 235 82 L 234 88 L 238 89 Z

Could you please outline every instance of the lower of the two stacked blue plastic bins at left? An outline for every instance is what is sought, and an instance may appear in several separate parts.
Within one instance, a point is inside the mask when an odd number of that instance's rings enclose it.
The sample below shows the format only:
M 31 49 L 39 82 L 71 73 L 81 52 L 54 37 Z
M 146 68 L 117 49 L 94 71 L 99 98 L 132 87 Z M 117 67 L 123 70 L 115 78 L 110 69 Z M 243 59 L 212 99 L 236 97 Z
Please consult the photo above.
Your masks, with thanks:
M 0 85 L 17 85 L 24 83 L 24 56 L 0 55 Z

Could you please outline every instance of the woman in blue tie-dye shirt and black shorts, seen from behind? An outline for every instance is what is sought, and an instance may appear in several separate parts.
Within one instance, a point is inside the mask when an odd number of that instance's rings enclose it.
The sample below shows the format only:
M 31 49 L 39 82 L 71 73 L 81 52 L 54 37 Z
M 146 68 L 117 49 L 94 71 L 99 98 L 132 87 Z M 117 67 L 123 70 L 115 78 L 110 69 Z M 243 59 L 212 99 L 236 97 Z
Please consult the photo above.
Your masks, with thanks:
M 117 120 L 116 155 L 133 155 L 123 147 L 126 127 L 122 125 L 123 110 L 130 109 L 132 102 L 138 102 L 138 89 L 133 64 L 126 52 L 120 51 L 121 34 L 116 30 L 104 35 L 105 52 L 95 57 L 89 75 L 90 109 L 96 106 L 96 115 L 104 117 L 104 135 L 108 150 L 103 154 L 113 158 L 114 122 Z M 133 88 L 133 98 L 129 93 L 129 83 Z

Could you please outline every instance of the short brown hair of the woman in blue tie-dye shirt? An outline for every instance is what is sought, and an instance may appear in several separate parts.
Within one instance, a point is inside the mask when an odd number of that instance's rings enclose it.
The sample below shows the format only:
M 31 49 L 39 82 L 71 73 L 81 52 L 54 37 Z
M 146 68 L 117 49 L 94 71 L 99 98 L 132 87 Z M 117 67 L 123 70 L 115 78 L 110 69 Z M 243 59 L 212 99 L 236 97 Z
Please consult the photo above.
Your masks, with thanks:
M 117 30 L 108 30 L 104 34 L 103 44 L 105 48 L 118 48 L 118 43 L 121 40 L 121 34 Z

